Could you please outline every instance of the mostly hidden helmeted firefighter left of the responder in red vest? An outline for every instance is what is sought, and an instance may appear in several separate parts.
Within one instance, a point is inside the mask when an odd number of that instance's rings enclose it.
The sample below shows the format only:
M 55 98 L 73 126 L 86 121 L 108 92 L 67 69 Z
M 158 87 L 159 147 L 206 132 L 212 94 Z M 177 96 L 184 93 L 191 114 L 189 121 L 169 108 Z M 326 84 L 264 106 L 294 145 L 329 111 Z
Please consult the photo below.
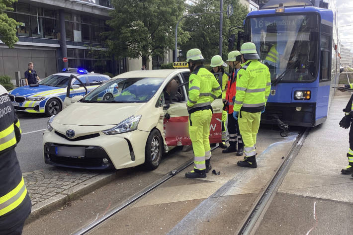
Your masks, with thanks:
M 222 101 L 223 101 L 223 111 L 222 111 L 222 142 L 219 146 L 222 149 L 226 149 L 226 139 L 227 139 L 227 130 L 226 130 L 226 121 L 227 121 L 227 111 L 224 110 L 224 105 L 226 103 L 226 89 L 228 83 L 229 74 L 224 71 L 223 67 L 228 67 L 226 63 L 222 60 L 220 55 L 216 55 L 211 59 L 212 70 L 211 73 L 222 73 Z M 233 117 L 232 117 L 233 118 Z

